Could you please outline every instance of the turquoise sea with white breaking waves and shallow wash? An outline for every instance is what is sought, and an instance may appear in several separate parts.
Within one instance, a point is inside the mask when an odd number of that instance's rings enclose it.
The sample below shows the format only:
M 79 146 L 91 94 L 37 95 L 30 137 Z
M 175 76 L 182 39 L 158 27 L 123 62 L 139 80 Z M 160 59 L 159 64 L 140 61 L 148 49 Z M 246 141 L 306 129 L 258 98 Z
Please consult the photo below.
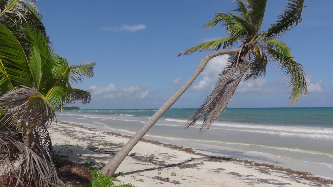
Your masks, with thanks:
M 183 130 L 194 108 L 169 109 L 144 136 L 211 155 L 333 178 L 333 107 L 228 108 L 210 129 Z M 157 109 L 63 110 L 58 121 L 134 135 Z M 126 142 L 125 142 L 126 143 Z

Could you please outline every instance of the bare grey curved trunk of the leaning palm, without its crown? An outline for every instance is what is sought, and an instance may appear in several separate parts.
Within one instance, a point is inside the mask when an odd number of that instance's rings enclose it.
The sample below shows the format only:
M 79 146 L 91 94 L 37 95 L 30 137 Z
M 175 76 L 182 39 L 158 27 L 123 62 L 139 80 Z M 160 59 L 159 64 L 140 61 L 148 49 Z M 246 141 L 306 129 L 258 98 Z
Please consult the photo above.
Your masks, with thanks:
M 209 53 L 205 56 L 191 77 L 161 106 L 160 109 L 156 111 L 156 113 L 142 126 L 138 132 L 124 145 L 124 147 L 103 167 L 100 171 L 103 175 L 108 175 L 112 177 L 119 165 L 125 159 L 125 157 L 130 153 L 133 147 L 140 141 L 140 139 L 148 132 L 148 130 L 156 123 L 158 119 L 169 109 L 174 102 L 188 89 L 189 86 L 193 83 L 193 81 L 198 77 L 198 75 L 205 68 L 208 61 L 214 57 L 225 55 L 225 54 L 233 54 L 238 53 L 240 48 L 237 49 L 226 49 L 219 50 Z

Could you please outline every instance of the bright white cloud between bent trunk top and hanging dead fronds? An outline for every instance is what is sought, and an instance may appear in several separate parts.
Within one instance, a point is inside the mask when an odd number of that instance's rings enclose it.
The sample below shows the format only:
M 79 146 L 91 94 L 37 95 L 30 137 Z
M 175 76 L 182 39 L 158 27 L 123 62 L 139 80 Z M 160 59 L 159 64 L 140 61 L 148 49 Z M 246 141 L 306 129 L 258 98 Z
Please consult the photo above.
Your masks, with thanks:
M 200 74 L 203 78 L 199 81 L 199 83 L 194 84 L 191 90 L 201 91 L 213 88 L 218 75 L 224 70 L 228 62 L 227 59 L 228 57 L 226 55 L 212 58 Z

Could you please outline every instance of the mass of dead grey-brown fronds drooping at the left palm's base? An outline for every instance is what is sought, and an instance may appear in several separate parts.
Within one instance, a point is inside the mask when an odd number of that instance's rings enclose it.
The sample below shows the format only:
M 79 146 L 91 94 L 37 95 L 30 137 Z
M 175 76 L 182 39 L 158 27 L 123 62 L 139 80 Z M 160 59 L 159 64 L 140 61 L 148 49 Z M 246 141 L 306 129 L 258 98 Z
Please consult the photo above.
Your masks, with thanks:
M 42 145 L 35 142 L 34 150 L 14 139 L 15 134 L 0 132 L 0 160 L 5 161 L 8 175 L 15 176 L 15 186 L 26 187 L 64 185 L 58 179 L 53 162 Z

